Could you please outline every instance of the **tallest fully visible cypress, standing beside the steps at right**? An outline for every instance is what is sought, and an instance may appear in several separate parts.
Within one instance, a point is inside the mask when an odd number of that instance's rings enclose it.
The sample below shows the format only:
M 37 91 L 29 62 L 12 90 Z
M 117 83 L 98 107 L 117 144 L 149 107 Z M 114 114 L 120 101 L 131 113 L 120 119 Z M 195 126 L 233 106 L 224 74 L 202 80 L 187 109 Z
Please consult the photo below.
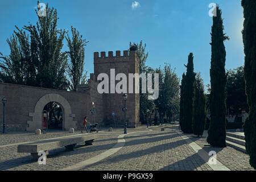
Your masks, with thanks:
M 223 33 L 224 26 L 220 7 L 213 16 L 212 58 L 210 61 L 210 126 L 207 142 L 213 147 L 226 147 L 226 51 L 224 41 L 229 39 Z

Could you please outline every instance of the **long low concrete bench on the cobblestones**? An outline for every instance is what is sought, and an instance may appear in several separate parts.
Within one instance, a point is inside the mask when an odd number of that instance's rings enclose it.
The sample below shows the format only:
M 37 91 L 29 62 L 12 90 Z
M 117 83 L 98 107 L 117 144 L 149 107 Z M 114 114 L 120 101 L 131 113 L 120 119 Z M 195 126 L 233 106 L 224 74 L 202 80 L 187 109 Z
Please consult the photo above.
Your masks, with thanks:
M 38 152 L 44 151 L 48 155 L 49 150 L 65 147 L 66 150 L 74 150 L 77 143 L 85 142 L 85 145 L 91 145 L 94 139 L 98 138 L 96 134 L 88 134 L 81 137 L 68 137 L 60 139 L 49 139 L 28 144 L 19 144 L 18 152 L 28 152 L 34 160 L 40 157 Z

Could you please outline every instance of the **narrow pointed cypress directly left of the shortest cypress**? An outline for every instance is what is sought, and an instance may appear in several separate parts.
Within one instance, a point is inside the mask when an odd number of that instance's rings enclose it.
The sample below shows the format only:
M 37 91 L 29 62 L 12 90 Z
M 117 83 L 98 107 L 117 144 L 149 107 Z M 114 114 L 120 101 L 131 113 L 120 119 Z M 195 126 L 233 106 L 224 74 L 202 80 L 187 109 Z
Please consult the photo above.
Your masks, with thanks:
M 184 87 L 183 132 L 192 134 L 193 82 L 195 81 L 193 53 L 189 53 L 188 64 L 185 67 L 187 68 L 187 73 Z

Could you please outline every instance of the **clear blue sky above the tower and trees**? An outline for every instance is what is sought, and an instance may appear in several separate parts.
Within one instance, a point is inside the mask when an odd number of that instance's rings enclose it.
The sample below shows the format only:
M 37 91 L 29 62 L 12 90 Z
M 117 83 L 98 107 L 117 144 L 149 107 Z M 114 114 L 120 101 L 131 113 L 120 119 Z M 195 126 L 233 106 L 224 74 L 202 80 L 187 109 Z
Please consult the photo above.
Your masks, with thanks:
M 224 27 L 230 40 L 225 42 L 226 69 L 244 63 L 241 1 L 234 0 L 51 0 L 57 9 L 58 28 L 77 28 L 89 41 L 85 51 L 85 69 L 93 73 L 93 52 L 123 51 L 129 42 L 143 40 L 149 52 L 147 65 L 158 68 L 170 63 L 179 77 L 186 71 L 189 52 L 194 55 L 195 72 L 201 72 L 204 84 L 210 76 L 210 31 L 212 18 L 209 3 L 222 9 Z M 6 39 L 15 25 L 35 24 L 36 0 L 3 1 L 0 6 L 0 52 L 9 55 Z M 66 43 L 66 42 L 64 42 Z M 67 46 L 64 46 L 64 50 Z

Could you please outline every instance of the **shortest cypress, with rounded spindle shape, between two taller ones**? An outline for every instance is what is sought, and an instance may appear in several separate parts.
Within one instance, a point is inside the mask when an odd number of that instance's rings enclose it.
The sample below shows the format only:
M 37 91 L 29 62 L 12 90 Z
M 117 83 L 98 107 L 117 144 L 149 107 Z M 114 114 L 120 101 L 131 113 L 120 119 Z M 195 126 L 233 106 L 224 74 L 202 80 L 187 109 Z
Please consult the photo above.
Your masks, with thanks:
M 193 133 L 197 137 L 202 136 L 205 129 L 206 121 L 206 102 L 204 95 L 204 83 L 200 77 L 200 73 L 196 75 L 196 80 L 193 84 Z

